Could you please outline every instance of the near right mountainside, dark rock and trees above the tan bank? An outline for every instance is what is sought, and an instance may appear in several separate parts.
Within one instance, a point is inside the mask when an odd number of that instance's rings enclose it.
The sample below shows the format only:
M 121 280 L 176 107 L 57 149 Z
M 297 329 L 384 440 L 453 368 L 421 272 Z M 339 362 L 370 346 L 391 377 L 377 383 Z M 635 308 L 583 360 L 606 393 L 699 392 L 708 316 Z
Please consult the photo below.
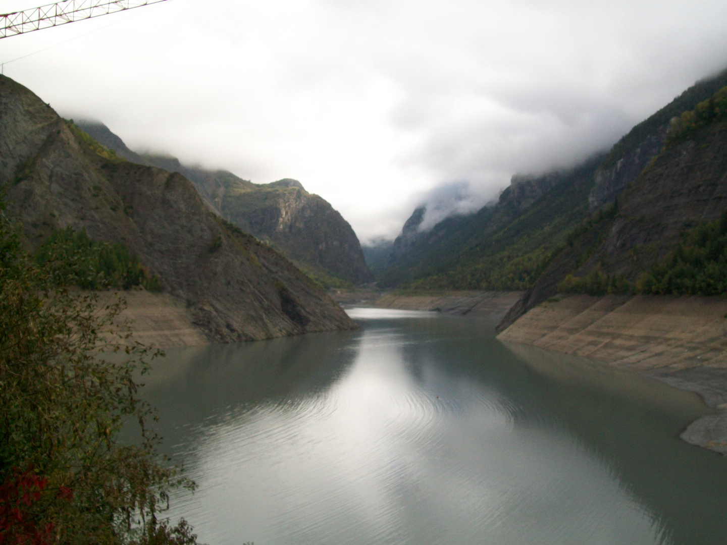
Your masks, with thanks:
M 659 155 L 571 233 L 499 328 L 563 290 L 727 291 L 727 86 L 671 122 Z

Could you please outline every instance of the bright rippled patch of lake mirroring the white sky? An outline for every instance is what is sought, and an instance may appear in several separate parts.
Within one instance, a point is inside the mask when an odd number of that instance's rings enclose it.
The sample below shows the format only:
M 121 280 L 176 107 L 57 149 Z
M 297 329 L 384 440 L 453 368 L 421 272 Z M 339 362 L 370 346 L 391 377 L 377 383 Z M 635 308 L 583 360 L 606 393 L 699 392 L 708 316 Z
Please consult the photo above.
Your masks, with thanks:
M 403 320 L 369 323 L 337 352 L 355 358 L 326 387 L 243 400 L 190 434 L 185 458 L 201 488 L 175 513 L 190 518 L 202 541 L 660 541 L 658 520 L 593 447 L 503 386 L 529 375 L 497 383 L 466 374 L 461 361 L 485 350 L 476 338 L 448 367 L 457 343 L 438 340 L 449 329 L 424 335 L 397 326 Z

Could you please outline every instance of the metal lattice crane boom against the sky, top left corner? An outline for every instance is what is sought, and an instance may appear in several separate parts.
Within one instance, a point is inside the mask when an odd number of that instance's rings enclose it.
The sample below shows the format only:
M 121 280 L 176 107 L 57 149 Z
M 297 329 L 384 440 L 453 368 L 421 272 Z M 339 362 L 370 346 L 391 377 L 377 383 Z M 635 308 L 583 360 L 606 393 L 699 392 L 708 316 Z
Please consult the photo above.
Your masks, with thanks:
M 0 39 L 164 1 L 166 0 L 63 0 L 56 4 L 0 15 Z

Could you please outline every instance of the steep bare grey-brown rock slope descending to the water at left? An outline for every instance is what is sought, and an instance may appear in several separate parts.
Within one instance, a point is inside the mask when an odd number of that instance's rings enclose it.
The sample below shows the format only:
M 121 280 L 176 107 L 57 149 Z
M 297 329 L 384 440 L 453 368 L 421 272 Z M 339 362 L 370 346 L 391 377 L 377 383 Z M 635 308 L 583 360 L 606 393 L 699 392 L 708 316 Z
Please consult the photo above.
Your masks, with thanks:
M 288 260 L 210 211 L 181 174 L 109 154 L 4 76 L 0 126 L 7 214 L 31 246 L 69 225 L 125 243 L 217 342 L 356 327 Z

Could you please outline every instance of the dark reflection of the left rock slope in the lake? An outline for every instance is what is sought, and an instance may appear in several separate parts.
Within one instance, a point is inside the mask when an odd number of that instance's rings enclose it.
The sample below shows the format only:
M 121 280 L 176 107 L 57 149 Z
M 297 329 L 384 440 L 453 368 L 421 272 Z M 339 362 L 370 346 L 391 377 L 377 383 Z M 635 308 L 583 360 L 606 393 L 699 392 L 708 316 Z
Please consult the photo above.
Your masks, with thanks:
M 167 350 L 143 381 L 164 419 L 164 444 L 241 408 L 324 391 L 353 361 L 357 337 L 334 332 Z

